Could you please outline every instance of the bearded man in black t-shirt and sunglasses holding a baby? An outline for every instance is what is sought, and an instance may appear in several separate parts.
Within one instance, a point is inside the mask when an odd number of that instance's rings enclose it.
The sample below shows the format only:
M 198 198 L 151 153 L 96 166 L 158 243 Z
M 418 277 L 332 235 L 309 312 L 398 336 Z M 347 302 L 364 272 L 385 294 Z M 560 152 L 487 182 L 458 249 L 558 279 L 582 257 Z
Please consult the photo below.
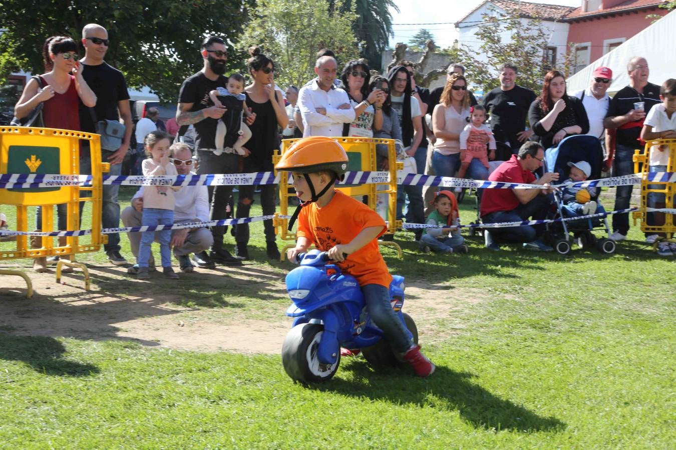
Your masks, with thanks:
M 202 41 L 201 56 L 203 67 L 193 76 L 189 76 L 180 86 L 178 94 L 178 125 L 195 127 L 195 151 L 197 152 L 197 173 L 238 173 L 239 155 L 234 150 L 224 150 L 214 154 L 216 150 L 216 125 L 225 112 L 224 107 L 215 106 L 209 99 L 209 92 L 218 87 L 226 88 L 228 79 L 223 76 L 228 51 L 221 38 L 208 37 Z M 209 186 L 211 202 L 210 217 L 212 221 L 226 218 L 228 202 L 233 194 L 233 186 Z M 198 267 L 212 266 L 212 260 L 226 265 L 241 264 L 223 248 L 225 227 L 211 227 L 214 244 L 210 254 L 200 252 L 193 256 Z

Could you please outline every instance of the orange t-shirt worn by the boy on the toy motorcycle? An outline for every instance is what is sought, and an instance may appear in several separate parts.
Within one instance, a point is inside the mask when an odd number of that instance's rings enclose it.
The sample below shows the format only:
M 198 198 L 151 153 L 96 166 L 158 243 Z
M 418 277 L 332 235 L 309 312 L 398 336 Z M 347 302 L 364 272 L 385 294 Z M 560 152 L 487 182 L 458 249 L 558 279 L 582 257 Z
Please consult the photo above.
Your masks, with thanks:
M 374 210 L 354 198 L 335 191 L 331 202 L 320 208 L 312 203 L 301 209 L 298 215 L 297 237 L 308 238 L 318 249 L 326 252 L 338 244 L 349 244 L 368 227 L 383 227 L 385 221 Z M 392 275 L 378 250 L 377 238 L 337 262 L 343 273 L 355 277 L 360 286 L 378 284 L 389 288 Z

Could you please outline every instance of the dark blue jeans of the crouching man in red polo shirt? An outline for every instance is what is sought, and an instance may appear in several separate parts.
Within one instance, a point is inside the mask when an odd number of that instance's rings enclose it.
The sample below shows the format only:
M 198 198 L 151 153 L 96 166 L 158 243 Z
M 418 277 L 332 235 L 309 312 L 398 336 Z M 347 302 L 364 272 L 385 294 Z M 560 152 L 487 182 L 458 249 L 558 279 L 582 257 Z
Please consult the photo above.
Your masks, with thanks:
M 533 220 L 545 219 L 554 201 L 552 194 L 538 195 L 527 204 L 520 204 L 510 211 L 495 211 L 481 217 L 481 221 L 488 223 L 521 222 L 533 217 Z M 486 244 L 504 243 L 518 244 L 531 242 L 544 233 L 544 224 L 525 225 L 523 227 L 503 227 L 487 229 Z

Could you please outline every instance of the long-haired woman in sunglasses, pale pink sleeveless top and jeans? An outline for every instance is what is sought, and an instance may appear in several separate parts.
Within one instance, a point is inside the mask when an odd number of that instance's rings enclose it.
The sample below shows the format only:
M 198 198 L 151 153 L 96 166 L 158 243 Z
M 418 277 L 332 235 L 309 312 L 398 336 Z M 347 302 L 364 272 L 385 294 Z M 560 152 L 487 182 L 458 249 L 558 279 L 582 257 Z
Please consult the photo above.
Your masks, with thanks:
M 467 95 L 467 80 L 461 74 L 448 77 L 439 105 L 432 113 L 432 129 L 437 140 L 434 143 L 432 167 L 441 177 L 454 177 L 460 169 L 460 133 L 466 127 L 470 115 L 470 99 Z M 487 179 L 488 169 L 479 159 L 473 159 L 467 168 L 468 178 Z

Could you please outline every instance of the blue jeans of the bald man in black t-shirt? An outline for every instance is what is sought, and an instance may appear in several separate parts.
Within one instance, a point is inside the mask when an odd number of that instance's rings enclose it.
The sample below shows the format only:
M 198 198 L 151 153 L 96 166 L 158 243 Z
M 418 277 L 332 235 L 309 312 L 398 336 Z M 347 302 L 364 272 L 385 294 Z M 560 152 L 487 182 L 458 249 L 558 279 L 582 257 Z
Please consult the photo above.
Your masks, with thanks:
M 107 163 L 108 157 L 112 152 L 101 150 L 101 162 Z M 110 172 L 104 175 L 120 175 L 122 173 L 122 163 L 110 165 Z M 80 157 L 80 174 L 91 175 L 91 157 L 89 157 L 89 142 L 82 142 L 82 156 Z M 104 184 L 101 193 L 101 227 L 118 228 L 120 227 L 120 204 L 118 203 L 118 192 L 120 185 Z M 89 192 L 84 192 L 82 196 L 90 196 Z M 84 203 L 80 202 L 80 217 L 82 216 Z M 80 223 L 82 221 L 80 220 Z M 108 243 L 103 246 L 105 252 L 120 251 L 120 234 L 110 233 Z

